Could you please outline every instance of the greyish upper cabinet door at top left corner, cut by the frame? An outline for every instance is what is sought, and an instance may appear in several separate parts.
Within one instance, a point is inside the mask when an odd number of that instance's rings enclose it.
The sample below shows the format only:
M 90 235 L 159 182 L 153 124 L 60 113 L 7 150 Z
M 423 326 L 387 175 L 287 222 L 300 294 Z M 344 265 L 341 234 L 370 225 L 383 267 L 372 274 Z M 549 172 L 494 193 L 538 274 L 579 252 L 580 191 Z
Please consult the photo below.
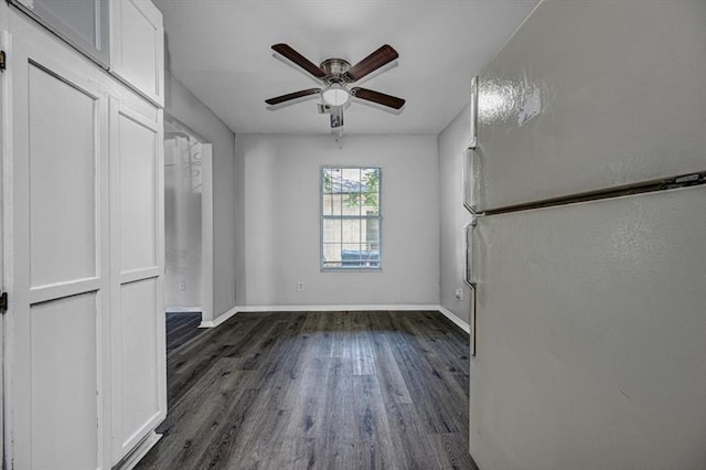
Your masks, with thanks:
M 104 68 L 110 65 L 108 0 L 10 0 L 10 3 L 54 31 Z

